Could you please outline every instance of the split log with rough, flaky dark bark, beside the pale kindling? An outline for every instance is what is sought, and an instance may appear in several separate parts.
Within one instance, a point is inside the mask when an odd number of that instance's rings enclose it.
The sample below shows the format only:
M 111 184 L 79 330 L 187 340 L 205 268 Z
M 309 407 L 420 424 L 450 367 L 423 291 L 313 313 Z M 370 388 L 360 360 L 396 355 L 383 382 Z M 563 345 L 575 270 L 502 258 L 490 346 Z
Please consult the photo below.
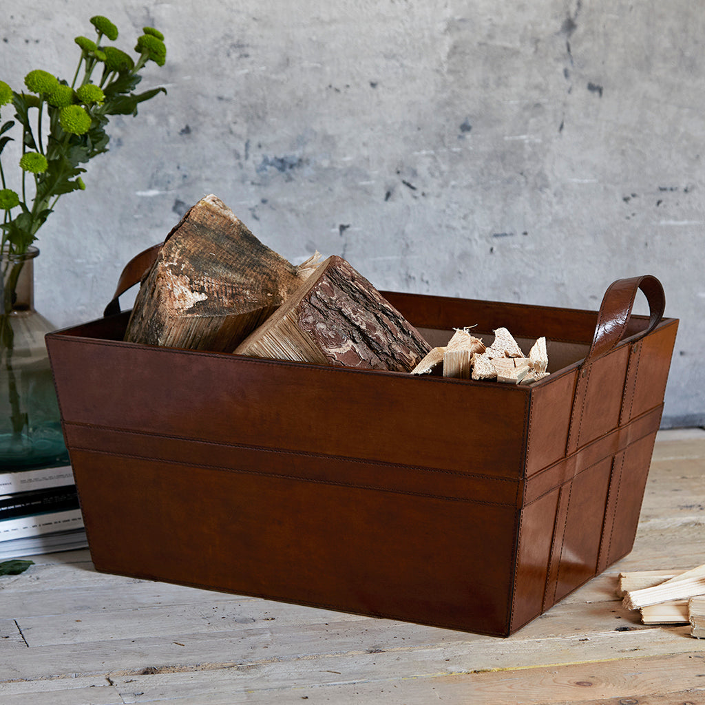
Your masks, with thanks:
M 333 255 L 235 353 L 411 372 L 430 349 L 367 279 Z

